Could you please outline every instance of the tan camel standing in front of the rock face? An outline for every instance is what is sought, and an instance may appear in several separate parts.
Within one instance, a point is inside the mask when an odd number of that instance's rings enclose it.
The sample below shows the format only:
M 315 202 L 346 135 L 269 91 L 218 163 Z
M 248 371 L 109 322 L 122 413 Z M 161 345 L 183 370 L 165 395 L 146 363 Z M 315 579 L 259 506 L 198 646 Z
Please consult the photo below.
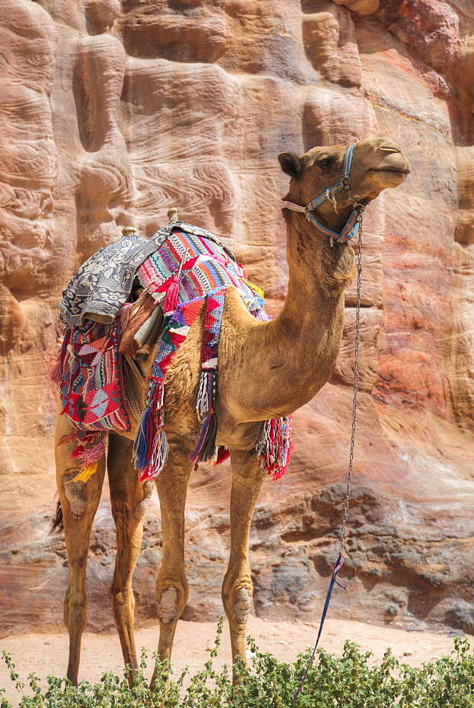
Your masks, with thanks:
M 354 209 L 366 205 L 385 188 L 400 185 L 410 164 L 400 147 L 385 138 L 367 138 L 354 144 L 350 183 L 332 200 L 317 206 L 311 223 L 301 207 L 342 179 L 347 147 L 315 147 L 303 156 L 278 155 L 290 176 L 283 215 L 287 223 L 288 295 L 281 313 L 268 322 L 254 319 L 237 290 L 227 289 L 222 316 L 219 378 L 215 412 L 218 445 L 230 450 L 230 556 L 222 583 L 232 660 L 245 661 L 246 623 L 252 601 L 249 568 L 249 530 L 266 473 L 256 460 L 262 421 L 288 416 L 312 399 L 329 380 L 336 363 L 344 326 L 344 290 L 354 278 L 354 250 L 348 242 L 330 239 L 325 228 L 341 232 Z M 299 207 L 299 211 L 298 211 Z M 169 457 L 155 480 L 163 528 L 163 560 L 157 578 L 159 615 L 158 655 L 171 658 L 176 622 L 188 600 L 184 566 L 184 508 L 186 486 L 193 469 L 189 456 L 200 424 L 196 394 L 201 372 L 203 313 L 176 353 L 167 372 L 165 430 Z M 153 352 L 142 362 L 142 375 L 151 375 Z M 57 416 L 56 441 L 71 433 L 65 416 Z M 132 573 L 142 540 L 143 520 L 152 482 L 137 481 L 132 466 L 129 433 L 111 433 L 108 476 L 116 525 L 117 555 L 110 588 L 115 625 L 125 663 L 133 672 L 137 653 L 133 634 L 135 600 Z M 77 684 L 81 635 L 87 615 L 85 590 L 89 537 L 105 474 L 104 458 L 96 474 L 84 484 L 71 481 L 78 462 L 71 459 L 74 443 L 56 447 L 57 489 L 64 520 L 69 560 L 69 585 L 64 600 L 64 622 L 69 631 L 67 677 Z M 156 669 L 155 669 L 156 672 Z M 154 673 L 155 676 L 155 673 Z M 152 682 L 154 680 L 152 678 Z

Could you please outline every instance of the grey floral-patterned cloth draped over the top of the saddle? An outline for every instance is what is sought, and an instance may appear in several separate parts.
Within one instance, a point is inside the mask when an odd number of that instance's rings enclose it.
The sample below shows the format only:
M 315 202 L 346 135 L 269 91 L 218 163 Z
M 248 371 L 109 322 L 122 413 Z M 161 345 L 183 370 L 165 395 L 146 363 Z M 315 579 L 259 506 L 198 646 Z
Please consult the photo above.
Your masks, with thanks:
M 130 296 L 138 266 L 164 244 L 176 227 L 188 234 L 215 241 L 235 261 L 232 251 L 216 236 L 180 221 L 167 224 L 151 239 L 136 234 L 123 236 L 120 241 L 104 246 L 88 258 L 62 292 L 63 297 L 57 307 L 64 329 L 81 326 L 85 319 L 113 322 L 120 307 Z

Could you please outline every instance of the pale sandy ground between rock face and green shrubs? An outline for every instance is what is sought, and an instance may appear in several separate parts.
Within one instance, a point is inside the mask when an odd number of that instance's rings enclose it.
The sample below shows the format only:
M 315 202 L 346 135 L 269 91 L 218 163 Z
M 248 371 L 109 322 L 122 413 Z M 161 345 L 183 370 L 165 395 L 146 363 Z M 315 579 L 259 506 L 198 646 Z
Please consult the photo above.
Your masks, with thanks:
M 212 622 L 179 621 L 173 649 L 174 677 L 188 665 L 191 673 L 203 668 L 213 648 L 216 625 Z M 376 627 L 362 622 L 328 618 L 322 634 L 320 646 L 327 651 L 342 654 L 345 639 L 356 641 L 363 651 L 373 651 L 373 662 L 380 661 L 385 649 L 392 647 L 397 658 L 411 666 L 420 666 L 424 661 L 436 660 L 453 650 L 453 637 L 429 632 L 407 632 L 404 629 Z M 298 652 L 313 646 L 317 635 L 316 624 L 295 622 L 266 622 L 264 619 L 249 617 L 247 633 L 256 639 L 261 651 L 269 651 L 284 661 L 293 661 Z M 158 639 L 157 622 L 150 620 L 147 627 L 136 632 L 137 648 L 145 646 L 149 653 L 156 650 Z M 468 637 L 474 646 L 474 637 Z M 22 634 L 0 640 L 0 650 L 11 653 L 16 670 L 23 680 L 34 671 L 44 679 L 48 673 L 64 675 L 67 668 L 67 634 Z M 215 666 L 230 663 L 230 643 L 227 628 L 222 634 Z M 95 683 L 103 671 L 123 672 L 122 654 L 116 634 L 84 633 L 82 639 L 81 670 L 79 679 L 86 678 Z M 152 673 L 152 661 L 146 671 Z M 44 681 L 42 682 L 43 685 Z M 0 664 L 0 687 L 6 688 L 6 696 L 18 704 L 18 693 L 9 678 L 3 661 Z M 26 687 L 28 683 L 26 681 Z

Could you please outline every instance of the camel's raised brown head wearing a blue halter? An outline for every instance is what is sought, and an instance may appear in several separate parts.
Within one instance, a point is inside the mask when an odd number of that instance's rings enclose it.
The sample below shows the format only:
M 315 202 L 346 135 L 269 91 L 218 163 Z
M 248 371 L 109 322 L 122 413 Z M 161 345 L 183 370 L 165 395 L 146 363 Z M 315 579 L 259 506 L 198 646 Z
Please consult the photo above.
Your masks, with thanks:
M 290 152 L 278 155 L 281 169 L 290 177 L 286 198 L 293 205 L 306 206 L 341 182 L 344 155 L 349 146 L 313 147 L 303 156 Z M 334 231 L 339 231 L 359 203 L 365 206 L 383 189 L 397 187 L 410 173 L 410 163 L 399 145 L 382 137 L 359 140 L 351 158 L 350 185 L 341 188 L 314 210 Z

